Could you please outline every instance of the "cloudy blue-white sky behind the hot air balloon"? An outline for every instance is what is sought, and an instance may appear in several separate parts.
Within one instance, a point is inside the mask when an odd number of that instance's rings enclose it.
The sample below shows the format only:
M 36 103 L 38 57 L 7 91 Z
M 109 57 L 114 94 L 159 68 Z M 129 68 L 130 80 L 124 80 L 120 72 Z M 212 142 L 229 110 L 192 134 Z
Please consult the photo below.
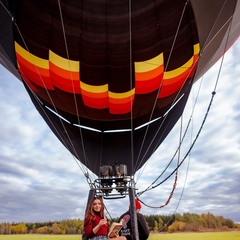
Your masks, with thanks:
M 167 166 L 179 144 L 181 129 L 185 129 L 191 117 L 179 158 L 174 159 L 158 183 L 171 173 L 194 141 L 217 81 L 209 115 L 191 153 L 179 168 L 170 203 L 159 208 L 172 191 L 175 175 L 139 196 L 151 206 L 143 205 L 143 214 L 212 213 L 240 222 L 239 56 L 240 40 L 224 55 L 222 68 L 218 62 L 194 84 L 182 119 L 136 173 L 136 188 L 140 192 Z M 83 172 L 48 129 L 22 83 L 1 65 L 0 126 L 0 222 L 83 219 L 89 193 Z M 104 202 L 110 217 L 120 216 L 129 206 L 128 197 Z

